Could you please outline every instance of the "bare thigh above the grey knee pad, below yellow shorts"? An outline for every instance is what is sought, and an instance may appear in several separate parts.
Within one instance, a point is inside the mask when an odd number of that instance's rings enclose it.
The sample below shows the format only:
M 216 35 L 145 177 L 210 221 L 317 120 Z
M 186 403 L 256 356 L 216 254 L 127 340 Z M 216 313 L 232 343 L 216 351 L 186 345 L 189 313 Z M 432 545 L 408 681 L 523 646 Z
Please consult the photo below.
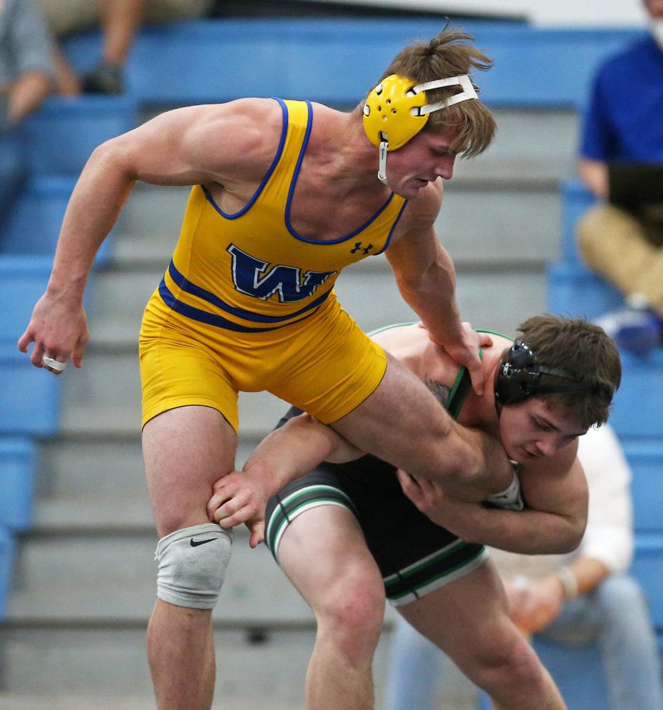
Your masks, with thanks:
M 160 537 L 208 523 L 212 484 L 235 466 L 237 438 L 211 407 L 168 410 L 143 427 L 147 489 Z

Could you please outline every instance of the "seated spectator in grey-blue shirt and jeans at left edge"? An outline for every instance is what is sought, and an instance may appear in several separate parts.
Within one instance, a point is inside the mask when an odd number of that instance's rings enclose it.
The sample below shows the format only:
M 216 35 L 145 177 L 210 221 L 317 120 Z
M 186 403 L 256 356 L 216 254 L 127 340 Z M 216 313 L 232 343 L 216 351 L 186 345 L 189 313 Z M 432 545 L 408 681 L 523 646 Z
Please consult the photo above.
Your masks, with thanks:
M 51 89 L 51 42 L 32 0 L 0 0 L 0 214 L 26 177 L 21 122 Z

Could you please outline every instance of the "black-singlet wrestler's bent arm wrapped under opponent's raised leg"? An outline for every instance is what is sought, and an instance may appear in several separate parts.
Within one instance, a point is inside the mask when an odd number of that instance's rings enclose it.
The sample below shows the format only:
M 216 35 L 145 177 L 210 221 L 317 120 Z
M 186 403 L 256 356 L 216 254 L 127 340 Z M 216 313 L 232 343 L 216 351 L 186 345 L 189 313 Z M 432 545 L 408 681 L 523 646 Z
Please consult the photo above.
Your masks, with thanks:
M 560 472 L 554 459 L 521 476 L 527 508 L 484 508 L 449 498 L 429 481 L 399 472 L 406 496 L 434 523 L 462 537 L 508 552 L 554 555 L 575 550 L 587 520 L 587 484 L 577 459 Z M 544 470 L 545 469 L 545 470 Z

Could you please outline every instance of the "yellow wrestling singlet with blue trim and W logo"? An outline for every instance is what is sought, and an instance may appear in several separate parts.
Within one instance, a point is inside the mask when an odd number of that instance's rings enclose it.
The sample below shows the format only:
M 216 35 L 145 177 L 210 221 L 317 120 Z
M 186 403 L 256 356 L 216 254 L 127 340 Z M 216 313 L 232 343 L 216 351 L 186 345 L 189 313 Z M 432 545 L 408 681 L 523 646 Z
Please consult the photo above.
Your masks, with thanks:
M 343 267 L 389 246 L 406 201 L 392 193 L 360 229 L 331 241 L 298 234 L 290 205 L 313 107 L 276 100 L 281 139 L 246 206 L 225 214 L 205 187 L 191 190 L 140 330 L 143 424 L 206 405 L 236 432 L 238 391 L 262 390 L 328 423 L 384 376 L 384 351 L 341 309 L 333 285 Z

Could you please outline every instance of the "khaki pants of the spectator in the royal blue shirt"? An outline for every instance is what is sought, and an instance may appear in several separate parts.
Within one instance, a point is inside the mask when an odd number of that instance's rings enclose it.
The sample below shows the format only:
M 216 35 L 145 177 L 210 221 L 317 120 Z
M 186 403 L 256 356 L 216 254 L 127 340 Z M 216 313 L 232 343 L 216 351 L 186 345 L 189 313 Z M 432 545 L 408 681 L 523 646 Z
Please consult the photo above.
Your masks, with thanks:
M 663 225 L 610 204 L 586 212 L 576 235 L 588 266 L 625 295 L 642 293 L 663 317 Z

